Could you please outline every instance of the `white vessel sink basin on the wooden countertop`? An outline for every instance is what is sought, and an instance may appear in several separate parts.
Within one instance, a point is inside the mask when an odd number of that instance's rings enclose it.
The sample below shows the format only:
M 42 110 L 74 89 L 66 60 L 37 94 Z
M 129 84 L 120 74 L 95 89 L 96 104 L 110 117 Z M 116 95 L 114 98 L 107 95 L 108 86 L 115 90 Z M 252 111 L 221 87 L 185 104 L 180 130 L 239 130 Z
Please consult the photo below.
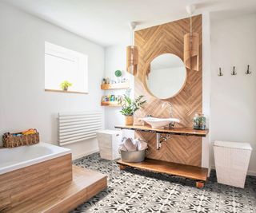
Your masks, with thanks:
M 144 117 L 144 118 L 141 118 L 140 120 L 143 120 L 147 124 L 150 124 L 152 128 L 164 128 L 166 125 L 170 123 L 174 125 L 174 123 L 180 122 L 180 120 L 178 120 L 177 118 L 158 118 L 153 116 Z

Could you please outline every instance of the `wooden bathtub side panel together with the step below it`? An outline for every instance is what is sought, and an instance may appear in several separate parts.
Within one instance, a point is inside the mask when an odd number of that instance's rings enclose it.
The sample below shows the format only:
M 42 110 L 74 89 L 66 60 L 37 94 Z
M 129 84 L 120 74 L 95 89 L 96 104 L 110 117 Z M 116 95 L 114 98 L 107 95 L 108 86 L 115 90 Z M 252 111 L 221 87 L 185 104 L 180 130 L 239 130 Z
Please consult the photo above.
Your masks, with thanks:
M 0 212 L 69 212 L 106 187 L 106 175 L 66 154 L 0 175 Z

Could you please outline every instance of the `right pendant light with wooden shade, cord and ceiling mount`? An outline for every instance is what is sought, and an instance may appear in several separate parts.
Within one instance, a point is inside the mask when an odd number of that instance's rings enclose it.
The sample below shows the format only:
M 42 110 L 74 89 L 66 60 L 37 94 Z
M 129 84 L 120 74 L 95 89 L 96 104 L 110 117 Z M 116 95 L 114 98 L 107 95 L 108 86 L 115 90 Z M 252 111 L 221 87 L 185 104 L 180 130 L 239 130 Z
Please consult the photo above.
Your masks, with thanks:
M 199 34 L 193 33 L 192 14 L 195 6 L 186 6 L 186 11 L 190 14 L 190 33 L 184 35 L 184 64 L 186 68 L 199 71 Z

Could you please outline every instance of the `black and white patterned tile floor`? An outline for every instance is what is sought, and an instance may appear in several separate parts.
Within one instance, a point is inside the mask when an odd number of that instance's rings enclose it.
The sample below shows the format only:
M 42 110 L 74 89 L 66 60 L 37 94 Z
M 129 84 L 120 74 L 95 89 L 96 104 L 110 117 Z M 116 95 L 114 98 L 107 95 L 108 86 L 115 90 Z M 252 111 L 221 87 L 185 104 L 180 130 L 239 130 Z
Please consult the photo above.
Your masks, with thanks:
M 256 177 L 247 176 L 240 189 L 217 183 L 214 172 L 205 187 L 194 181 L 136 169 L 120 171 L 115 161 L 102 160 L 93 154 L 74 164 L 108 176 L 108 187 L 77 207 L 80 212 L 242 212 L 256 213 Z

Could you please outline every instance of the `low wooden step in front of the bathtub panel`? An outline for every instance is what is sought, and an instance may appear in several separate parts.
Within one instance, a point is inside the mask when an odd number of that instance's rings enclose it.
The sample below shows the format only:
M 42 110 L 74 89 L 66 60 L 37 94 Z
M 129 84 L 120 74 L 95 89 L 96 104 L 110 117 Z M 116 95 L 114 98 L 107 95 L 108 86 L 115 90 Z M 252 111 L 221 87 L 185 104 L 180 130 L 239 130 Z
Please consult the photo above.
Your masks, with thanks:
M 69 212 L 107 187 L 106 176 L 73 166 L 73 180 L 3 212 Z

